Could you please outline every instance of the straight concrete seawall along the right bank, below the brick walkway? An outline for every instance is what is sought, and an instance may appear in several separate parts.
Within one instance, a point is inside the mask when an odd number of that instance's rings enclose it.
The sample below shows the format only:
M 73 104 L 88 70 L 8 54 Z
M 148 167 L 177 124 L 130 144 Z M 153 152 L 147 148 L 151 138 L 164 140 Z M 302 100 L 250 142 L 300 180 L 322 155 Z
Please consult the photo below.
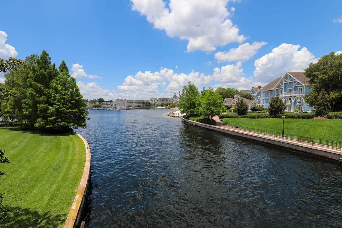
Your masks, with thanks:
M 267 143 L 267 144 L 284 147 L 284 148 L 291 149 L 291 150 L 296 150 L 296 151 L 307 153 L 310 155 L 315 155 L 315 156 L 333 159 L 337 161 L 342 160 L 341 159 L 342 152 L 338 150 L 333 150 L 333 149 L 328 149 L 328 148 L 323 148 L 323 147 L 318 147 L 318 146 L 313 146 L 313 145 L 306 145 L 300 142 L 290 142 L 288 140 L 272 137 L 271 135 L 265 136 L 265 135 L 258 135 L 252 132 L 243 132 L 240 130 L 222 128 L 219 126 L 199 123 L 199 122 L 187 120 L 184 118 L 182 118 L 182 122 L 190 124 L 190 125 L 194 125 L 194 126 L 199 126 L 201 128 L 206 128 L 209 130 L 237 136 L 237 137 L 247 138 L 249 140 L 255 140 L 255 141 L 262 142 L 262 143 Z

